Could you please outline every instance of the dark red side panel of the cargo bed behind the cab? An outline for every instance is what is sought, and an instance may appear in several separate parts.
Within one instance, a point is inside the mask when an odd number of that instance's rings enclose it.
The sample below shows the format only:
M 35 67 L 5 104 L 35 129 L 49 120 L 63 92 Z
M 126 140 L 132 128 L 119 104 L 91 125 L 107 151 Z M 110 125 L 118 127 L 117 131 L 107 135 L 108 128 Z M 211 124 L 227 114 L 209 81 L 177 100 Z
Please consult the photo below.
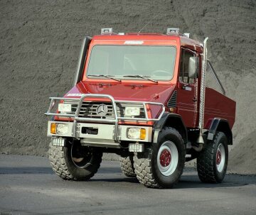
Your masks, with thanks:
M 210 126 L 213 118 L 225 118 L 230 128 L 235 123 L 235 101 L 225 97 L 214 89 L 206 87 L 206 106 L 204 116 L 204 128 Z

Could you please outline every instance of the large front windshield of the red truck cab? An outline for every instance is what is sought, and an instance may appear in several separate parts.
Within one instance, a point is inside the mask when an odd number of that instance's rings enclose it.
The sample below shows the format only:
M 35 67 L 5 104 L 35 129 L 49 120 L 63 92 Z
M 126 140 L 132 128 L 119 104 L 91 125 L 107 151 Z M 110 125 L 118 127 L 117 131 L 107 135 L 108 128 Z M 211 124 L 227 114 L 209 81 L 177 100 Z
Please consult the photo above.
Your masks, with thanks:
M 87 77 L 171 80 L 175 46 L 95 45 L 90 54 Z

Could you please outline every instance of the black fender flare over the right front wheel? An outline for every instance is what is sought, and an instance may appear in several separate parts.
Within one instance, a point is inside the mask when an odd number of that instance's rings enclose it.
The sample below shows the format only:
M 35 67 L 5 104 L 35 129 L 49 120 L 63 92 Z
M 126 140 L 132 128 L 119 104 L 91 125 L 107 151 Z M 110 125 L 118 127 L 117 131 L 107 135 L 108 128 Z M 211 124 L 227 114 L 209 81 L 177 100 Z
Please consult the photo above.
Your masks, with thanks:
M 171 119 L 173 119 L 173 121 Z M 183 123 L 181 115 L 170 114 L 169 112 L 164 112 L 163 116 L 161 116 L 159 121 L 154 123 L 154 126 L 153 126 L 153 133 L 154 133 L 153 143 L 157 143 L 159 132 L 166 125 L 169 125 L 171 127 L 176 128 L 178 130 L 178 132 L 181 133 L 184 144 L 186 144 L 188 142 L 188 131 L 187 131 L 187 128 L 186 128 L 185 124 Z

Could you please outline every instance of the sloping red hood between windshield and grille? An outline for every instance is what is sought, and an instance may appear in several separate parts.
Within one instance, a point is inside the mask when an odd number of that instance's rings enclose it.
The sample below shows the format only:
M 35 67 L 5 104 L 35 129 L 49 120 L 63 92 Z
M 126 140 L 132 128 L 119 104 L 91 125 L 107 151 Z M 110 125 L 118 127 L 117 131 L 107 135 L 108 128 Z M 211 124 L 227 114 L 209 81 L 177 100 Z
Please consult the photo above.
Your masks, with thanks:
M 174 84 L 79 82 L 65 94 L 65 97 L 81 97 L 81 94 L 108 94 L 115 100 L 164 103 L 174 91 L 174 87 Z

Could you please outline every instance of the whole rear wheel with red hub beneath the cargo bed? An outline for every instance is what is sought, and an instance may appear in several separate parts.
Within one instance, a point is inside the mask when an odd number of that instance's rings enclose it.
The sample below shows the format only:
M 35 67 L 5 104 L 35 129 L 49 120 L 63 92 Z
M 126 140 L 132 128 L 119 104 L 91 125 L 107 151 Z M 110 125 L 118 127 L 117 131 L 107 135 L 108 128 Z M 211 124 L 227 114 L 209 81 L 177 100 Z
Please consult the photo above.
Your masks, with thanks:
M 198 177 L 201 182 L 220 183 L 228 167 L 228 139 L 223 132 L 218 132 L 206 144 L 197 158 Z

